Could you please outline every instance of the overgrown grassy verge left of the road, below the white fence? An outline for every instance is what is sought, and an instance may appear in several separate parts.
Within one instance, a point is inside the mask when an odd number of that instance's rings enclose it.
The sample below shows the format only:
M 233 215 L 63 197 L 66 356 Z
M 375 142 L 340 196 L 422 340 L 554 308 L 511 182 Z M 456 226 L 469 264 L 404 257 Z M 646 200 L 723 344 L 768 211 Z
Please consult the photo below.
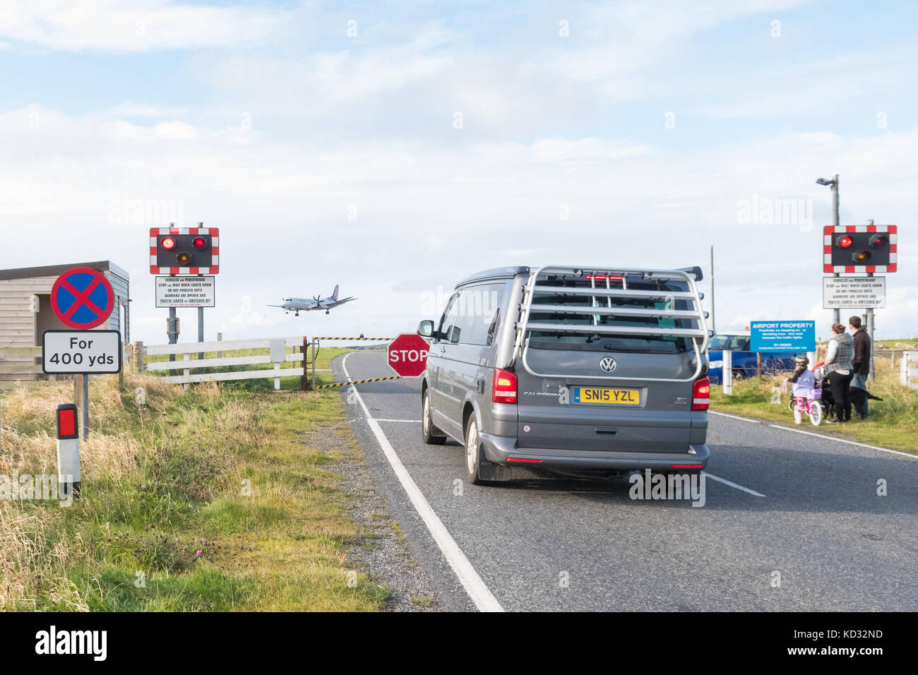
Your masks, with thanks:
M 348 566 L 356 532 L 326 468 L 359 450 L 304 444 L 343 419 L 339 390 L 271 388 L 92 381 L 83 499 L 0 500 L 0 610 L 380 609 L 386 589 Z M 53 413 L 72 394 L 5 385 L 0 475 L 56 474 Z

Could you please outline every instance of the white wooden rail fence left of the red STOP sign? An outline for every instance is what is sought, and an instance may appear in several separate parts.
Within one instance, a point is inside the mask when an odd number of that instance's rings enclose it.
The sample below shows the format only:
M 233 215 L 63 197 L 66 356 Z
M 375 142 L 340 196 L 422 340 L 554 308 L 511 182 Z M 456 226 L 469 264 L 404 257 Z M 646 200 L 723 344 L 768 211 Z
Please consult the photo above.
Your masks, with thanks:
M 281 388 L 281 377 L 305 377 L 302 366 L 306 351 L 302 336 L 285 338 L 258 338 L 252 340 L 230 340 L 217 343 L 151 344 L 135 343 L 135 358 L 141 370 L 146 372 L 181 371 L 181 375 L 166 375 L 171 384 L 185 385 L 196 382 L 225 382 L 241 379 L 274 378 L 274 389 Z M 288 348 L 293 348 L 292 353 Z M 297 349 L 299 351 L 297 351 Z M 268 354 L 226 356 L 227 352 L 241 350 L 267 350 Z M 199 354 L 217 352 L 216 358 L 198 358 Z M 151 356 L 174 355 L 175 361 L 150 361 Z M 199 373 L 192 375 L 192 368 L 216 368 L 231 366 L 252 366 L 272 364 L 268 370 L 233 370 L 223 373 Z M 282 368 L 283 364 L 301 364 L 299 367 Z M 322 372 L 322 371 L 318 371 Z

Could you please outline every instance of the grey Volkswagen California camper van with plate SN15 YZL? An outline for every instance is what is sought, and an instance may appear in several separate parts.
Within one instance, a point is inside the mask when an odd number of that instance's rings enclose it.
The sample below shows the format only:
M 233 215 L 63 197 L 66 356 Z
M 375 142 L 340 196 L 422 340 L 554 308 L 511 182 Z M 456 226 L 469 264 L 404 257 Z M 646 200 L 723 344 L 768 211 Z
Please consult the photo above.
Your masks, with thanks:
M 710 333 L 678 270 L 506 267 L 460 282 L 431 338 L 423 440 L 465 447 L 465 478 L 511 467 L 615 477 L 707 462 Z

